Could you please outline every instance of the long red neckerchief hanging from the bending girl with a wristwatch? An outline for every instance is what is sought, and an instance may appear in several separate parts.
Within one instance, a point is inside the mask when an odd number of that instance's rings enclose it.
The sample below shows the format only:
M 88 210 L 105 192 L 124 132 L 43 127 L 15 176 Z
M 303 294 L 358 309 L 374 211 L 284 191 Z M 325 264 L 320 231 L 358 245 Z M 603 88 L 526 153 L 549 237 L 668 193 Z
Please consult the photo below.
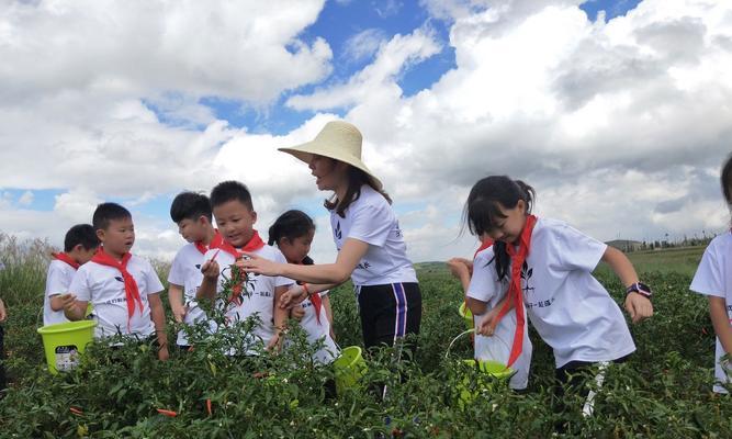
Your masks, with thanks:
M 531 233 L 533 232 L 533 226 L 536 224 L 536 216 L 527 216 L 526 225 L 519 237 L 518 250 L 516 250 L 516 247 L 513 244 L 506 245 L 506 251 L 508 251 L 508 256 L 511 258 L 511 279 L 508 285 L 508 292 L 506 293 L 508 300 L 498 312 L 496 322 L 500 322 L 503 316 L 508 313 L 513 301 L 516 308 L 516 333 L 514 334 L 514 345 L 511 346 L 511 352 L 508 357 L 508 364 L 506 364 L 508 367 L 514 364 L 523 349 L 523 326 L 526 319 L 523 317 L 523 295 L 521 294 L 521 268 L 523 267 L 526 258 L 529 256 L 529 250 L 531 248 Z

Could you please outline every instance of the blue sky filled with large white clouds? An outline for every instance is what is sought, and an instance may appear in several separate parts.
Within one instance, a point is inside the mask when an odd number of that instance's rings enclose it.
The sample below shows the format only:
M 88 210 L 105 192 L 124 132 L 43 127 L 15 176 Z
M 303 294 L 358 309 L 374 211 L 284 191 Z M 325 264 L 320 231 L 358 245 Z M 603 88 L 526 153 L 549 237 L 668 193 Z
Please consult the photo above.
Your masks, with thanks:
M 716 0 L 0 0 L 0 232 L 60 246 L 115 201 L 134 251 L 184 244 L 182 190 L 236 179 L 267 236 L 318 226 L 307 167 L 278 147 L 344 119 L 415 261 L 470 256 L 471 185 L 531 184 L 536 213 L 601 240 L 724 230 L 732 3 Z

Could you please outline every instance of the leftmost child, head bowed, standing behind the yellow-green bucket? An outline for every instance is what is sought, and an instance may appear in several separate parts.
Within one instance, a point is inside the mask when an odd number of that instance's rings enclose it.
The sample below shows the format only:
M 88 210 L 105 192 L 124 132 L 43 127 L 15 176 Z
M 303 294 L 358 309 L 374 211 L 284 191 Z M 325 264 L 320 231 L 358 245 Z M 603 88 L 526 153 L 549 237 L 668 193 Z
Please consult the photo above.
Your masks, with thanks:
M 66 323 L 61 295 L 69 292 L 74 274 L 87 263 L 99 248 L 99 238 L 90 224 L 77 224 L 64 238 L 64 251 L 52 254 L 46 273 L 46 293 L 43 300 L 43 324 Z

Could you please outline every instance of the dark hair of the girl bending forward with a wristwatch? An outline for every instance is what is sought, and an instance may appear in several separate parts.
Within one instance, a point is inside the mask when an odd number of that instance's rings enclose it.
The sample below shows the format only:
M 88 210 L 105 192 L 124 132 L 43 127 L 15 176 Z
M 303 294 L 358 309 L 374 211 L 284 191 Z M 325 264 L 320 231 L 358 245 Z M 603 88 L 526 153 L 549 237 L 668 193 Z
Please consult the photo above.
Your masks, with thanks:
M 468 225 L 471 234 L 481 236 L 496 228 L 500 219 L 506 217 L 500 211 L 502 207 L 514 209 L 519 200 L 523 200 L 528 215 L 536 198 L 533 188 L 521 180 L 511 180 L 507 176 L 486 177 L 470 190 L 463 210 L 463 224 Z M 510 262 L 506 243 L 497 240 L 493 250 L 495 257 L 488 264 L 495 261 L 498 280 L 503 280 Z

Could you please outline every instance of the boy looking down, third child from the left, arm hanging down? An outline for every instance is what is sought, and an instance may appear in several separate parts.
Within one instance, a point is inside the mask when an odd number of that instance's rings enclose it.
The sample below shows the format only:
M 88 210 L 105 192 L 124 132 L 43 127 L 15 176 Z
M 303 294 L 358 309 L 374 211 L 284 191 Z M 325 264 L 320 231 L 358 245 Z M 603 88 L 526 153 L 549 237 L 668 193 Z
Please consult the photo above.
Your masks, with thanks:
M 178 323 L 194 325 L 205 323 L 216 331 L 216 323 L 195 302 L 195 292 L 201 285 L 203 256 L 212 241 L 218 239 L 218 230 L 212 224 L 211 203 L 206 195 L 194 192 L 179 193 L 170 205 L 170 218 L 178 225 L 178 232 L 188 241 L 173 258 L 168 273 L 168 301 L 173 318 Z M 185 330 L 178 333 L 176 341 L 182 350 L 189 350 Z

